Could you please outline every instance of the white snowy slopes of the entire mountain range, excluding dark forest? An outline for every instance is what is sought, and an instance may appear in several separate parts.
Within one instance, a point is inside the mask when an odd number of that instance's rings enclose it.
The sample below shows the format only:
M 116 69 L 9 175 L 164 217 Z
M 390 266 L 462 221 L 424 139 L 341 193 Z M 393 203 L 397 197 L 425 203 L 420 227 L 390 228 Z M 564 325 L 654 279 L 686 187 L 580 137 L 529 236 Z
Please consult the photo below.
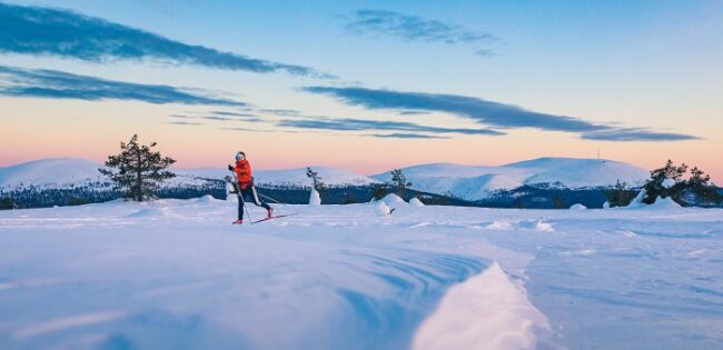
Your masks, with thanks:
M 58 158 L 0 168 L 0 190 L 97 187 L 106 181 L 98 172 L 101 167 L 102 163 L 90 160 Z M 339 168 L 311 168 L 329 187 L 367 186 L 390 180 L 389 172 L 367 177 Z M 207 179 L 220 180 L 229 174 L 225 164 L 172 170 L 178 177 L 169 181 L 169 187 L 202 186 L 208 183 Z M 586 189 L 610 187 L 620 180 L 630 186 L 641 186 L 648 177 L 645 169 L 624 162 L 572 158 L 539 158 L 502 167 L 433 163 L 404 168 L 403 171 L 415 190 L 472 201 L 525 184 Z M 306 168 L 255 170 L 254 174 L 257 184 L 263 187 L 309 188 L 311 184 Z

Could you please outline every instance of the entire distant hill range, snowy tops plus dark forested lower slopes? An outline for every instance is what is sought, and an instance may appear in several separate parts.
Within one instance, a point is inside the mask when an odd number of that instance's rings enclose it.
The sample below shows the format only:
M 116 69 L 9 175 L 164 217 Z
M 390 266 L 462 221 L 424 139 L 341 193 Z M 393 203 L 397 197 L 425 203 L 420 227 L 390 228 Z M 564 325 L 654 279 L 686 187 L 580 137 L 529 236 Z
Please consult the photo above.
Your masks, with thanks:
M 99 172 L 102 163 L 58 158 L 0 168 L 0 197 L 11 197 L 21 208 L 82 204 L 119 198 Z M 367 177 L 354 171 L 311 167 L 329 188 L 324 203 L 368 201 L 375 184 L 389 181 L 384 172 Z M 159 191 L 161 198 L 226 197 L 225 164 L 219 168 L 172 169 L 178 177 Z M 602 207 L 604 190 L 618 179 L 641 186 L 644 169 L 610 160 L 541 158 L 502 167 L 422 164 L 403 169 L 413 182 L 405 199 L 419 197 L 426 203 L 502 208 L 555 208 L 583 203 Z M 263 194 L 287 203 L 308 201 L 310 180 L 306 168 L 255 170 Z

